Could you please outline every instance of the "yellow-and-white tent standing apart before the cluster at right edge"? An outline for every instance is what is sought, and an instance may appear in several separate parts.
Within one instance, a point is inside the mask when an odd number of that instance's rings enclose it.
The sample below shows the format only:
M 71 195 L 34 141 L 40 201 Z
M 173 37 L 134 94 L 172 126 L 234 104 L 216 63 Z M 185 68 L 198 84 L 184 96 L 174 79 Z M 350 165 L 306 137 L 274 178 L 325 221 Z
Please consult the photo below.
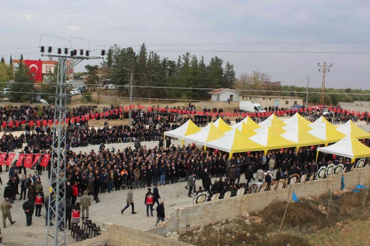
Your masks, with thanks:
M 370 156 L 370 148 L 363 145 L 352 134 L 348 134 L 335 144 L 327 147 L 317 148 L 317 154 L 318 151 L 351 158 L 352 161 L 354 161 L 356 158 Z

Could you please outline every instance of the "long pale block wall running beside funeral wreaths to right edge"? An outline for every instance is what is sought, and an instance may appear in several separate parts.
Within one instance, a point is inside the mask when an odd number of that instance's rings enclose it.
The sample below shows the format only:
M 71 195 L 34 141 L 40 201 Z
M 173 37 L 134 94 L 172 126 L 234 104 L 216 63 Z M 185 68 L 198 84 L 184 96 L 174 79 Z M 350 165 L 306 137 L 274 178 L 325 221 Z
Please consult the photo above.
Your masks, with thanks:
M 345 187 L 367 184 L 370 181 L 370 167 L 354 169 L 344 173 Z M 319 196 L 341 188 L 341 174 L 330 175 L 326 179 L 287 185 L 285 189 L 257 194 L 221 199 L 213 202 L 180 207 L 158 227 L 149 230 L 152 234 L 165 234 L 176 231 L 179 235 L 197 230 L 201 225 L 210 225 L 233 217 L 243 217 L 258 212 L 274 201 L 291 201 L 293 191 L 298 199 Z

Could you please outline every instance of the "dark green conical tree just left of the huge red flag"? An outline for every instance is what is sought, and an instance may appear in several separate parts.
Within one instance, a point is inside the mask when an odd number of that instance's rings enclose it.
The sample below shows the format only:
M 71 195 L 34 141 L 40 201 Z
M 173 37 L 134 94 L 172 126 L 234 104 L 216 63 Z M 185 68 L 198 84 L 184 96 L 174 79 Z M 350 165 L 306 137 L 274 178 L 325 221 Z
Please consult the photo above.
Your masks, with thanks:
M 29 89 L 34 84 L 29 68 L 23 64 L 23 55 L 20 55 L 18 69 L 14 74 L 14 83 L 9 86 L 10 102 L 31 102 L 33 101 L 33 90 Z

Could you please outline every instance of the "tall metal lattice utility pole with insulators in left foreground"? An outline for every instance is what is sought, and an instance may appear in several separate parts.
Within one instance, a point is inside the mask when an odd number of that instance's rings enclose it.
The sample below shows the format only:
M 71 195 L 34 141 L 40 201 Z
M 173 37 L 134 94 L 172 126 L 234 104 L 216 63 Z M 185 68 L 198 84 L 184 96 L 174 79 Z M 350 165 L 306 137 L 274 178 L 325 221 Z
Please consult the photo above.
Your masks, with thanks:
M 46 246 L 65 246 L 65 183 L 67 179 L 66 174 L 66 156 L 65 156 L 65 145 L 66 145 L 66 128 L 65 118 L 68 108 L 66 107 L 67 100 L 70 95 L 67 94 L 67 89 L 70 87 L 66 83 L 67 73 L 75 65 L 85 59 L 101 59 L 99 56 L 89 56 L 88 50 L 86 55 L 83 56 L 83 50 L 80 50 L 80 56 L 77 56 L 77 50 L 70 50 L 68 55 L 68 48 L 64 48 L 64 54 L 62 49 L 57 48 L 57 55 L 51 55 L 52 47 L 49 46 L 47 49 L 48 54 L 45 52 L 44 46 L 40 46 L 41 56 L 47 56 L 49 58 L 58 58 L 58 72 L 56 81 L 56 93 L 55 93 L 55 107 L 54 110 L 54 125 L 53 125 L 53 137 L 52 137 L 52 154 L 51 154 L 51 170 L 50 170 L 50 187 L 49 193 L 49 208 L 50 214 L 54 214 L 55 217 L 46 214 L 47 229 L 46 229 Z M 101 51 L 101 55 L 105 54 L 105 50 Z M 67 59 L 76 59 L 75 62 L 67 65 Z M 56 124 L 57 122 L 57 124 Z M 60 169 L 60 165 L 64 168 Z M 45 189 L 46 190 L 46 189 Z M 55 198 L 52 197 L 55 195 Z M 52 225 L 52 226 L 50 226 Z

